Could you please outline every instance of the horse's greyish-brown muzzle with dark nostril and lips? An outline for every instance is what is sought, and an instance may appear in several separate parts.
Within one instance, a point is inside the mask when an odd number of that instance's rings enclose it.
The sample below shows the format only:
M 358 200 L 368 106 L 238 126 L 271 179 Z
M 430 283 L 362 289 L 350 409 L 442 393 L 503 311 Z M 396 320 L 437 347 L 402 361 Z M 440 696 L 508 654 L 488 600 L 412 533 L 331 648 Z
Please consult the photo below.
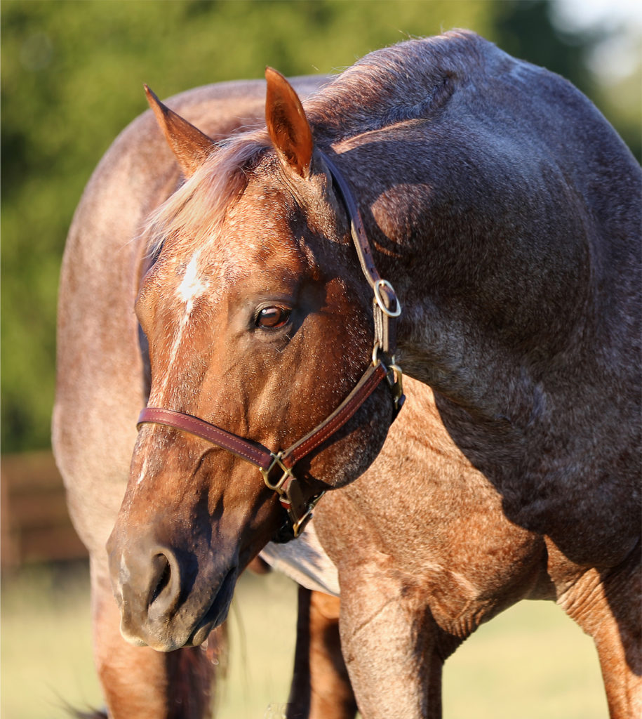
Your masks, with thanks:
M 198 646 L 225 620 L 238 577 L 236 558 L 217 569 L 220 555 L 218 562 L 199 559 L 152 536 L 123 548 L 115 532 L 107 550 L 121 634 L 130 644 L 157 651 Z

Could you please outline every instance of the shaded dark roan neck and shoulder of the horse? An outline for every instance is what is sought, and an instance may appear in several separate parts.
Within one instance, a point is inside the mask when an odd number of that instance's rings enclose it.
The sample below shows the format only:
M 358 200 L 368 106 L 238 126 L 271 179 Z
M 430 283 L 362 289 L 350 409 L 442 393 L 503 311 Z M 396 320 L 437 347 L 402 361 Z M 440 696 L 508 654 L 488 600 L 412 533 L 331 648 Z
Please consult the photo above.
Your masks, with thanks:
M 415 48 L 433 85 L 454 86 L 445 106 L 418 118 L 402 86 L 409 117 L 391 124 L 378 74 L 355 100 L 362 132 L 334 145 L 404 301 L 400 362 L 436 390 L 513 521 L 613 566 L 640 535 L 639 168 L 568 83 L 483 42 L 441 42 Z

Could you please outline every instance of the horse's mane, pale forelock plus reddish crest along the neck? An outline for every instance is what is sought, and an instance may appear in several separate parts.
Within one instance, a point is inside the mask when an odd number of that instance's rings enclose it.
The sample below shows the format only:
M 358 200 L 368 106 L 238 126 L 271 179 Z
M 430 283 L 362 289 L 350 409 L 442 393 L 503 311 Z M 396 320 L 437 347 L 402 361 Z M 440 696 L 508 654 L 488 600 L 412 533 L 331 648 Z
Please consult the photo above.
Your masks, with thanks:
M 369 53 L 304 101 L 317 143 L 434 114 L 470 75 L 471 64 L 480 66 L 488 47 L 495 49 L 473 32 L 453 30 Z M 247 186 L 248 169 L 269 147 L 266 129 L 218 142 L 218 150 L 150 216 L 144 229 L 148 255 L 172 238 L 202 247 L 216 237 Z

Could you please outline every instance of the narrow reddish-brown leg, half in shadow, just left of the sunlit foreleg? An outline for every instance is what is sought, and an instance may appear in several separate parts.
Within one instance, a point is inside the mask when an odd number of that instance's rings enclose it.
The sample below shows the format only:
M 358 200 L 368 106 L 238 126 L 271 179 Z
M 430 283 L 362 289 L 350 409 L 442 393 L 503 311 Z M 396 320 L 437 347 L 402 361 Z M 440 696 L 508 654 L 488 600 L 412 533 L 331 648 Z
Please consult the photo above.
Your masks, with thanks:
M 338 597 L 299 586 L 287 719 L 353 719 L 357 712 L 341 654 L 339 608 Z

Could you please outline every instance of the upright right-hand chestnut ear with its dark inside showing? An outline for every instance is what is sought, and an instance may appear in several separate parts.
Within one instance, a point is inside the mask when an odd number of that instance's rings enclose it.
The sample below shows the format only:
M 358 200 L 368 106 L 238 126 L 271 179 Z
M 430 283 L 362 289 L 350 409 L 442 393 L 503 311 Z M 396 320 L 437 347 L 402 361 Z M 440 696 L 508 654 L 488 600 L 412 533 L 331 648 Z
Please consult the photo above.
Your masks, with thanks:
M 265 79 L 265 120 L 272 145 L 287 169 L 307 179 L 314 143 L 301 101 L 290 83 L 273 68 L 266 68 Z

